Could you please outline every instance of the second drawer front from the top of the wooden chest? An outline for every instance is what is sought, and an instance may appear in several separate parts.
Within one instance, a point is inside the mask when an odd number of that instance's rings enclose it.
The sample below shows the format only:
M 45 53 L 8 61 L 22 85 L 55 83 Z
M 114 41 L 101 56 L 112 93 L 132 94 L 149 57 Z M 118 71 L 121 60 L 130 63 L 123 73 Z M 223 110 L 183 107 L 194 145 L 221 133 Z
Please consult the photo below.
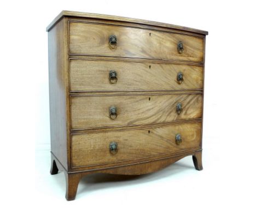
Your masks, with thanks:
M 202 89 L 203 83 L 202 66 L 71 59 L 69 70 L 71 91 Z

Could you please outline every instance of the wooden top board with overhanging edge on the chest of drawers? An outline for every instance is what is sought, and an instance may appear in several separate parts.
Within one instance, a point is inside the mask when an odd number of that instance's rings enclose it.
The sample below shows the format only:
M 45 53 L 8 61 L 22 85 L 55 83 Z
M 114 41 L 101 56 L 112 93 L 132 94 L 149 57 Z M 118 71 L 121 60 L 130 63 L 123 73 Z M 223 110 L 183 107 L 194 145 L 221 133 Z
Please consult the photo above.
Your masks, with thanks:
M 91 18 L 91 19 L 114 20 L 114 21 L 120 21 L 120 22 L 138 23 L 138 24 L 143 24 L 143 25 L 166 27 L 166 28 L 171 28 L 171 29 L 184 30 L 186 32 L 208 35 L 208 32 L 205 30 L 199 30 L 199 29 L 194 29 L 194 28 L 189 28 L 189 27 L 182 27 L 182 26 L 171 25 L 171 24 L 161 23 L 161 22 L 148 21 L 148 20 L 133 19 L 133 18 L 129 18 L 129 17 L 100 15 L 100 14 L 92 14 L 92 13 L 81 13 L 81 12 L 77 12 L 77 11 L 61 11 L 61 13 L 50 23 L 50 25 L 48 27 L 46 27 L 46 31 L 48 32 L 55 25 L 55 23 L 57 23 L 57 21 L 59 21 L 63 16 L 86 17 L 86 18 Z

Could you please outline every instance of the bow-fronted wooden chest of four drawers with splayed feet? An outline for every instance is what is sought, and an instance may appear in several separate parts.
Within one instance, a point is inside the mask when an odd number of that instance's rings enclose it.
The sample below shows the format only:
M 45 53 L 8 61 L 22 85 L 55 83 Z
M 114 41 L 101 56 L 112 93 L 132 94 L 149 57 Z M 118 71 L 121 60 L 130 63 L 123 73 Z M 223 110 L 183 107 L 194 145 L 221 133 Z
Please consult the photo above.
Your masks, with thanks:
M 90 173 L 139 175 L 193 156 L 202 169 L 206 31 L 62 11 L 46 29 L 51 174 L 66 199 Z

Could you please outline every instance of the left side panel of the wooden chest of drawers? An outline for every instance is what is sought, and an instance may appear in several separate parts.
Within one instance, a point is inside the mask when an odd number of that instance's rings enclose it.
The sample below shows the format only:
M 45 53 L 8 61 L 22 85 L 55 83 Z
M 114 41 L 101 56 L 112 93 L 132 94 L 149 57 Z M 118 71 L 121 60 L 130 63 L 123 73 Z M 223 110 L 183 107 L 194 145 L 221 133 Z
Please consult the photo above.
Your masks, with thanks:
M 51 151 L 68 168 L 69 82 L 67 21 L 62 19 L 48 33 Z M 60 148 L 61 146 L 61 148 Z

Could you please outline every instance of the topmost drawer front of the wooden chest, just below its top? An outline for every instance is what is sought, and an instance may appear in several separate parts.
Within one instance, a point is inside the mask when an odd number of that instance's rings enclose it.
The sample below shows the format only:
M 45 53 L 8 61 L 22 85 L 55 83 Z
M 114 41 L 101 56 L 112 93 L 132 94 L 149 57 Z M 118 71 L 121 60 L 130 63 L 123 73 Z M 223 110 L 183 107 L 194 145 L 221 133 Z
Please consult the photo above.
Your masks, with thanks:
M 117 45 L 109 44 L 110 35 L 115 35 Z M 183 49 L 178 51 L 179 42 Z M 69 53 L 202 62 L 203 39 L 157 30 L 69 22 Z

